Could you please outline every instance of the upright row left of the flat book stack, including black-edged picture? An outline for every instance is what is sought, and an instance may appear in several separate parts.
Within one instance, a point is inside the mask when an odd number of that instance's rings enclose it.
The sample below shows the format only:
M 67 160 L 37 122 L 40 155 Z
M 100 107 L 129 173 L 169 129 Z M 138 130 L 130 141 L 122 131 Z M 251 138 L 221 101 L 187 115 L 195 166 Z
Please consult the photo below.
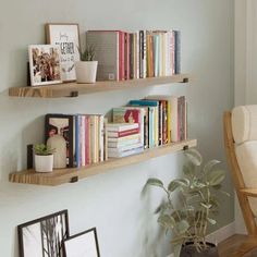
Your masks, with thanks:
M 108 159 L 105 118 L 101 114 L 47 114 L 46 140 L 61 135 L 66 142 L 66 167 L 82 167 Z

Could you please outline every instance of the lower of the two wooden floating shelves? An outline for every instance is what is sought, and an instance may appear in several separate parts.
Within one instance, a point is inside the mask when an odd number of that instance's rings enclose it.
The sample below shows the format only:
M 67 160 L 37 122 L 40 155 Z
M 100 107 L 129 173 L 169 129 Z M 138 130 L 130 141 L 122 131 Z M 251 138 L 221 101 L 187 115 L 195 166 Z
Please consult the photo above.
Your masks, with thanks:
M 122 168 L 147 161 L 149 159 L 168 155 L 196 146 L 196 139 L 187 139 L 180 143 L 172 143 L 154 149 L 146 149 L 140 154 L 109 159 L 108 161 L 91 164 L 83 168 L 59 169 L 51 173 L 37 173 L 34 170 L 25 170 L 10 174 L 9 181 L 14 183 L 37 184 L 37 185 L 61 185 L 64 183 L 77 182 L 78 180 L 89 178 L 91 175 L 110 172 L 112 169 Z

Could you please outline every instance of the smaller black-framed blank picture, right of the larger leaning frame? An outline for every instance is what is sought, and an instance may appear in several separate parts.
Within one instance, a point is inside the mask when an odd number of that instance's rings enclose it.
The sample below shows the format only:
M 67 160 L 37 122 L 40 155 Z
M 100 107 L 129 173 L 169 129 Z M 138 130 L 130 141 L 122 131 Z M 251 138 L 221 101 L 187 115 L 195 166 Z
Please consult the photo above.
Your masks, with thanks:
M 66 238 L 64 250 L 66 257 L 100 257 L 96 228 Z

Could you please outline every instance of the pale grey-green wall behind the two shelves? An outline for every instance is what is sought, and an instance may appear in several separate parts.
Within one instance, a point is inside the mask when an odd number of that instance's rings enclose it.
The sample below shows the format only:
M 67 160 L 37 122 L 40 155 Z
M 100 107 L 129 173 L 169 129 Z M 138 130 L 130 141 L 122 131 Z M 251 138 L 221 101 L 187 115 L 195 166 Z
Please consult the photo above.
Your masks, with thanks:
M 26 84 L 27 45 L 44 42 L 47 22 L 77 22 L 82 38 L 86 29 L 94 28 L 181 29 L 182 70 L 192 73 L 194 81 L 77 99 L 10 98 L 9 87 Z M 140 191 L 149 176 L 168 182 L 179 175 L 182 154 L 58 187 L 11 184 L 8 174 L 26 167 L 26 144 L 42 140 L 46 113 L 106 113 L 113 106 L 150 93 L 185 94 L 189 136 L 198 138 L 206 159 L 224 161 L 222 112 L 233 105 L 233 1 L 9 0 L 1 4 L 0 35 L 1 256 L 17 256 L 17 224 L 64 208 L 69 209 L 72 233 L 97 227 L 103 257 L 167 256 L 170 238 L 160 236 L 152 215 L 161 196 L 151 191 L 142 197 Z M 229 175 L 225 188 L 232 192 Z M 223 198 L 222 206 L 217 228 L 233 220 L 233 197 Z

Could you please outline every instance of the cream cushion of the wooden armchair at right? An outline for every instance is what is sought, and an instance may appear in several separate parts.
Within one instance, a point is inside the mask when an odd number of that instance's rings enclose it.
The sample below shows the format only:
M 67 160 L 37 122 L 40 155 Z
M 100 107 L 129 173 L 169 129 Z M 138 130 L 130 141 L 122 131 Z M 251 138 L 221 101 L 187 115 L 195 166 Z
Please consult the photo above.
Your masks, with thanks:
M 257 188 L 257 106 L 241 106 L 232 110 L 232 133 L 245 186 Z M 257 198 L 249 197 L 249 204 L 257 217 Z

